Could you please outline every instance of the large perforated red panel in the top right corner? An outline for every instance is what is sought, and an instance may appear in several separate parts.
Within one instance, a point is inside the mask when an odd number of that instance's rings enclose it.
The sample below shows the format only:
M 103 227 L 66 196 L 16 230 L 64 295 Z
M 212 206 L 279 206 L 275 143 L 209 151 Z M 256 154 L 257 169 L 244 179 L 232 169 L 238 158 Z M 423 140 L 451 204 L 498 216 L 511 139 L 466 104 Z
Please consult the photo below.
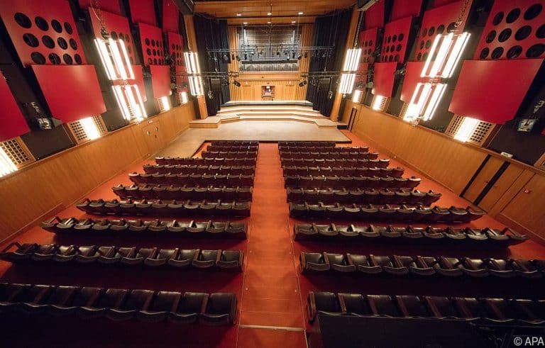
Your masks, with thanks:
M 545 57 L 545 0 L 496 0 L 475 60 Z

